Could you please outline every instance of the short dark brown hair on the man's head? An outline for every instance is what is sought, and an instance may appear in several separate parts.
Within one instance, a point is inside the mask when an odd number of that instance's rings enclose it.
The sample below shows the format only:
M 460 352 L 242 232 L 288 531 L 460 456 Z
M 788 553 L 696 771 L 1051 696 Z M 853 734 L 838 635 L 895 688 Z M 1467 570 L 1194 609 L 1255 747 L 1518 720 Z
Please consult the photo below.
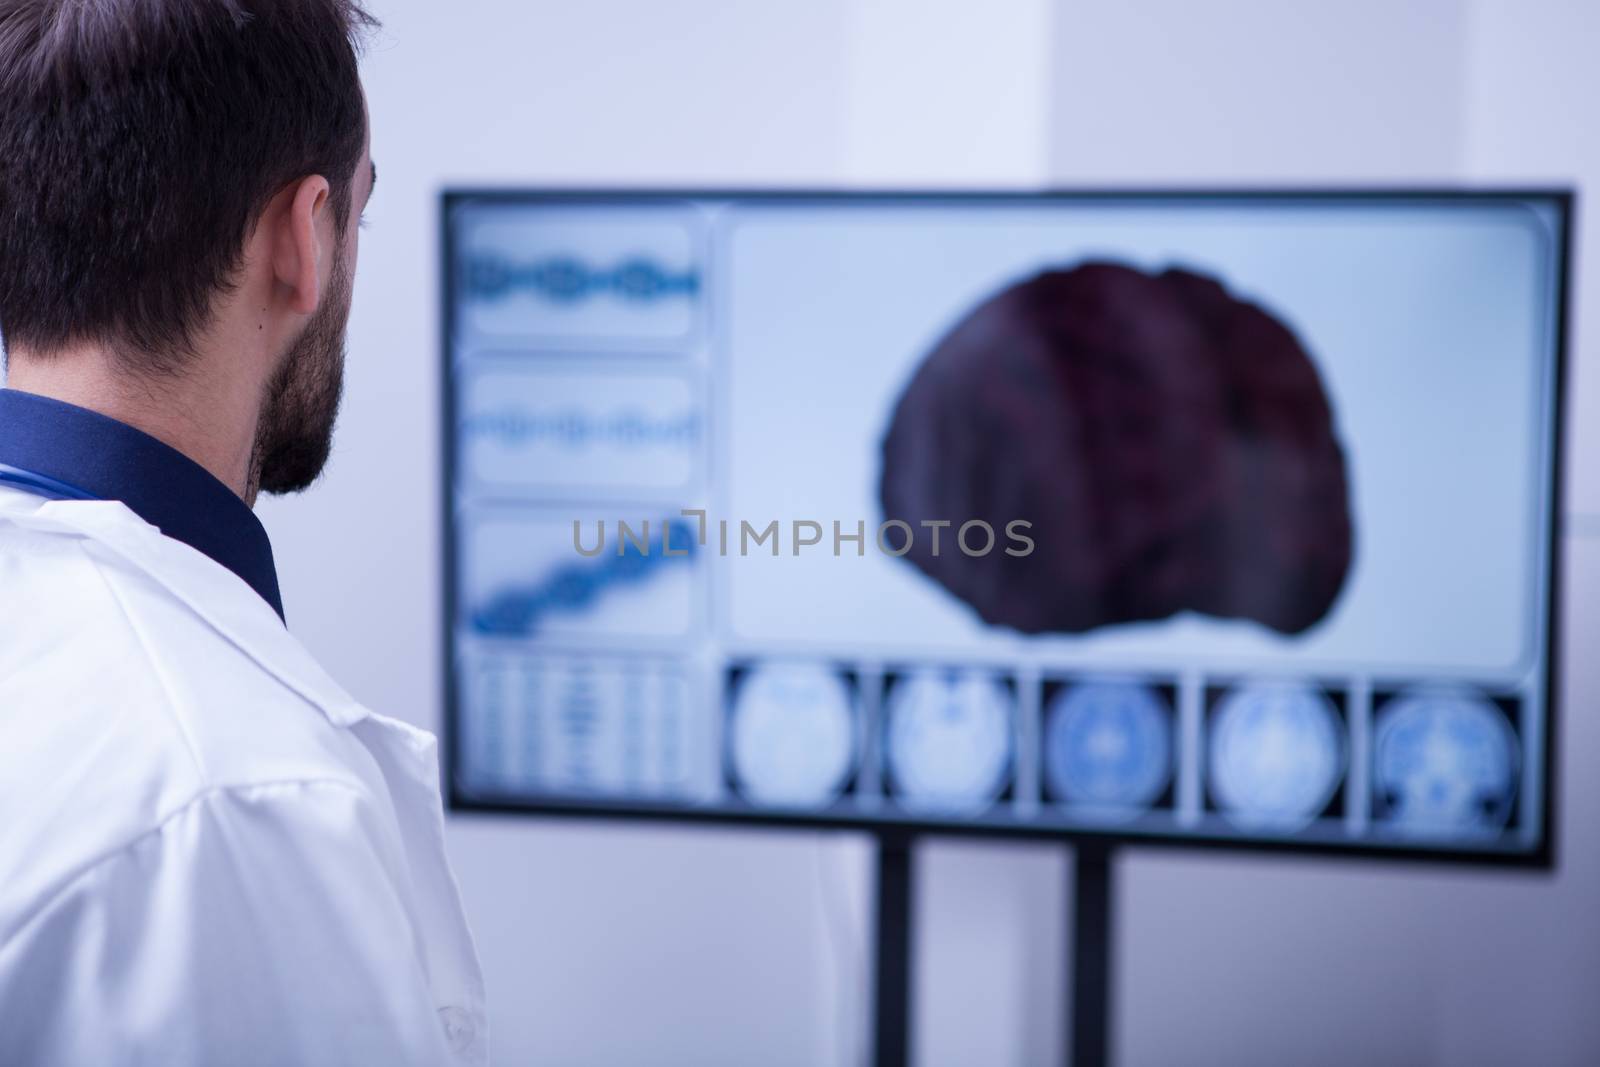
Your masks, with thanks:
M 170 371 L 277 192 L 349 224 L 355 0 L 0 0 L 0 334 Z

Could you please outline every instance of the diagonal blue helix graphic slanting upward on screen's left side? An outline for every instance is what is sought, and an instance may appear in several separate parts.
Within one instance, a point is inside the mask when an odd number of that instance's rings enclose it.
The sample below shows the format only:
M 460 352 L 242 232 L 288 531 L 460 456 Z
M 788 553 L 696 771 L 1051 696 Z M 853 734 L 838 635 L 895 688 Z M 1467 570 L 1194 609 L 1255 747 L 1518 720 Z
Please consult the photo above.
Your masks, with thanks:
M 578 614 L 592 608 L 613 587 L 638 585 L 664 566 L 688 563 L 699 550 L 696 530 L 682 518 L 662 523 L 662 541 L 653 545 L 619 537 L 614 549 L 590 560 L 563 563 L 533 585 L 507 589 L 472 613 L 472 629 L 490 637 L 531 637 L 552 614 Z M 664 552 L 672 545 L 672 555 Z

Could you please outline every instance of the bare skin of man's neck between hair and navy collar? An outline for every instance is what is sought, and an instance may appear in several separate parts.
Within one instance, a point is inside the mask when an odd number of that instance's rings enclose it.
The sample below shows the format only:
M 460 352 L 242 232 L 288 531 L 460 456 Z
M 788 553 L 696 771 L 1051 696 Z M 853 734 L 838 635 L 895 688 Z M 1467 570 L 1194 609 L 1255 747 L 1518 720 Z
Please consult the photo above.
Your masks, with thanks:
M 238 494 L 250 496 L 250 462 L 259 403 L 248 390 L 226 387 L 203 373 L 203 360 L 170 376 L 133 376 L 99 347 L 45 358 L 13 350 L 6 387 L 98 411 L 149 434 L 205 467 Z

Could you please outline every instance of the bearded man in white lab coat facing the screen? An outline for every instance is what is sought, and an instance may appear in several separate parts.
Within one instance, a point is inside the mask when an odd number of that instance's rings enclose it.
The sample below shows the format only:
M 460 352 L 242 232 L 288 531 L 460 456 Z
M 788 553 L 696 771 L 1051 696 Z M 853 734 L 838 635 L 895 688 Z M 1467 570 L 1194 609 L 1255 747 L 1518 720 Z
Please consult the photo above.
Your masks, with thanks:
M 434 739 L 290 637 L 352 0 L 0 0 L 0 1064 L 485 1062 Z

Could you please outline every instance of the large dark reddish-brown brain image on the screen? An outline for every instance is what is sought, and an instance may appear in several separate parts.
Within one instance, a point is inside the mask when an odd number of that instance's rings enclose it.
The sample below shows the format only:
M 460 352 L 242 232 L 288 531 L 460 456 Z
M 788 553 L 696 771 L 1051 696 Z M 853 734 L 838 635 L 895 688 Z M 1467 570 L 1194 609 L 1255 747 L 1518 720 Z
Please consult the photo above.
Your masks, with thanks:
M 1045 270 L 923 357 L 882 445 L 886 520 L 1032 523 L 1027 555 L 906 560 L 986 622 L 1083 633 L 1181 611 L 1285 635 L 1344 585 L 1344 450 L 1310 354 L 1189 270 Z

